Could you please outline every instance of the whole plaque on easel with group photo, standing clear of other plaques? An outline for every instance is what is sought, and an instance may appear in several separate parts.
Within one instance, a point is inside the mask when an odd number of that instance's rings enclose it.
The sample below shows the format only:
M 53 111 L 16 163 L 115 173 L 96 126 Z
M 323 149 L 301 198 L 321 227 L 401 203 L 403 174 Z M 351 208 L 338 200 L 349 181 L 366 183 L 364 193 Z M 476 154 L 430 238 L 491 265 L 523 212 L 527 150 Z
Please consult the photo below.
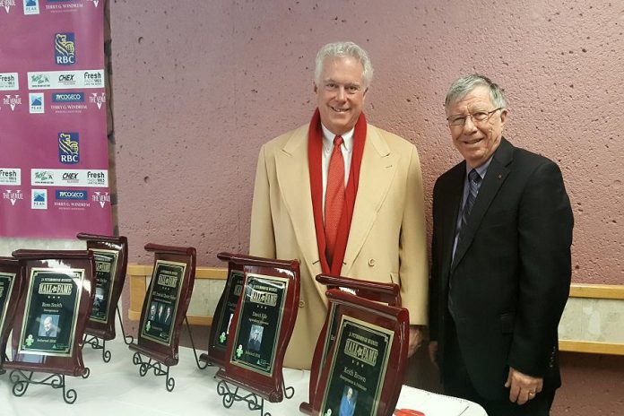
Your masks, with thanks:
M 133 362 L 141 377 L 152 369 L 155 376 L 166 377 L 170 392 L 176 381 L 169 377 L 169 367 L 178 364 L 180 329 L 195 282 L 195 248 L 147 244 L 145 250 L 154 252 L 154 268 L 143 300 L 138 339 L 130 343 L 130 349 L 135 351 Z

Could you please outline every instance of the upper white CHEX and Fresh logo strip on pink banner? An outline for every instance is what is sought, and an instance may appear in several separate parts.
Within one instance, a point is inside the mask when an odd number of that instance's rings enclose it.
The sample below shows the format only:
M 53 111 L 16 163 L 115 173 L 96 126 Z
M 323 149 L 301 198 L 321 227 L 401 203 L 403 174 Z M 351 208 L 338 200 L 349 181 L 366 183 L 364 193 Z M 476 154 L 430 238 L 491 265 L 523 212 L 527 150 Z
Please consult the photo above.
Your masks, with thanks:
M 29 72 L 28 88 L 29 90 L 104 88 L 104 70 Z

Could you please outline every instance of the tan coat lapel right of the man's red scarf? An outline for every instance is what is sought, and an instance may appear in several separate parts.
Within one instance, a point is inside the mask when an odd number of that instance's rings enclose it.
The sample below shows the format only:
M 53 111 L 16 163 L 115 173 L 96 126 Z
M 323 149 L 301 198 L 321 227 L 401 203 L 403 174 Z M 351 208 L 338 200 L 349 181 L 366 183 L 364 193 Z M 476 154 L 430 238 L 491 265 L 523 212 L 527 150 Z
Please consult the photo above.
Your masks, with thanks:
M 360 168 L 360 184 L 355 197 L 351 230 L 344 253 L 341 274 L 349 275 L 355 258 L 377 218 L 394 178 L 398 155 L 392 154 L 375 126 L 367 126 L 366 143 Z

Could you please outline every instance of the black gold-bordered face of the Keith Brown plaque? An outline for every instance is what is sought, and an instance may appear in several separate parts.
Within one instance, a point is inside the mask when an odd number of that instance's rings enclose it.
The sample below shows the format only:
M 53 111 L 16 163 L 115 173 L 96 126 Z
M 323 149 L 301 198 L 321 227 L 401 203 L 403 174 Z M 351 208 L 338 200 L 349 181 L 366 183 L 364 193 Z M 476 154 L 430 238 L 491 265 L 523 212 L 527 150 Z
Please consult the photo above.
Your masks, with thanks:
M 322 415 L 377 415 L 393 338 L 389 329 L 342 315 Z

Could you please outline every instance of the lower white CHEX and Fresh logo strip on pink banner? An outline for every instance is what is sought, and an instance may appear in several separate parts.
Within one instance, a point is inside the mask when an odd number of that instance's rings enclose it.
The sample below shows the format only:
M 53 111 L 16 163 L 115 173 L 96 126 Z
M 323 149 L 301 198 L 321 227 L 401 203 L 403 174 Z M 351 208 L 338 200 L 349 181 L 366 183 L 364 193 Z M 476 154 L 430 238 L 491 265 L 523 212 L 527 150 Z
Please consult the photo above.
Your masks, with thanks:
M 108 170 L 31 169 L 30 185 L 108 187 Z

